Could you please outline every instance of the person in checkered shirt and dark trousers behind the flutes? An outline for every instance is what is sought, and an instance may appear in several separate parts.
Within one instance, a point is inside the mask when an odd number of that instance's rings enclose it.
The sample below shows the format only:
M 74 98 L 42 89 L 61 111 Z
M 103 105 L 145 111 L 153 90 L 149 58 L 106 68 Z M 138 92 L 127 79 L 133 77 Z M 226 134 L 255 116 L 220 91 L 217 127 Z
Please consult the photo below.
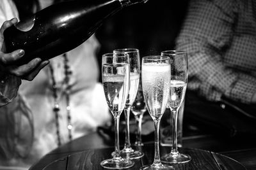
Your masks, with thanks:
M 228 136 L 256 132 L 256 2 L 191 0 L 176 39 L 188 52 L 184 119 Z

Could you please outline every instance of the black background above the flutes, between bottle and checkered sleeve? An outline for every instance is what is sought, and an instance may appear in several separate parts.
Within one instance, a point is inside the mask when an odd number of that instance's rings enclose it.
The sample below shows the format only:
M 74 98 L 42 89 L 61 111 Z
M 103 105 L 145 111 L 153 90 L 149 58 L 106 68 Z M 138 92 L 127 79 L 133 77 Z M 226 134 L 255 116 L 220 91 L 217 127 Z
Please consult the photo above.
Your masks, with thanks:
M 173 50 L 188 2 L 148 0 L 145 4 L 128 6 L 108 18 L 95 33 L 101 45 L 97 56 L 100 68 L 102 54 L 115 48 L 138 48 L 141 58 Z

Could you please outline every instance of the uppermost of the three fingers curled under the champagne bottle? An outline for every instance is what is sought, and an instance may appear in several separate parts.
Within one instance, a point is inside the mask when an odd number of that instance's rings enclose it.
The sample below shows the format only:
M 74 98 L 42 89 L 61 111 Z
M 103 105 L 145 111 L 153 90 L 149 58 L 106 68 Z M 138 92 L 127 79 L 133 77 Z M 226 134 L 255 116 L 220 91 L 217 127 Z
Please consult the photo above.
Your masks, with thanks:
M 13 64 L 13 62 L 19 60 L 25 54 L 24 50 L 15 50 L 11 53 L 0 52 L 0 62 L 4 65 Z

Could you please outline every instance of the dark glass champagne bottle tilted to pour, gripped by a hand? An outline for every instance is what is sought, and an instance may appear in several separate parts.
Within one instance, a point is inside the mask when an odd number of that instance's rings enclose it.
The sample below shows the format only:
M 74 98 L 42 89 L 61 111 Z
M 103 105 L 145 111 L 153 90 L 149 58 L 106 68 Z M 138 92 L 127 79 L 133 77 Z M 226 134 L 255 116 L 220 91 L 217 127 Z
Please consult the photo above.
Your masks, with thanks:
M 125 6 L 148 0 L 76 0 L 53 4 L 4 31 L 6 52 L 23 49 L 22 65 L 48 60 L 81 45 L 102 22 Z

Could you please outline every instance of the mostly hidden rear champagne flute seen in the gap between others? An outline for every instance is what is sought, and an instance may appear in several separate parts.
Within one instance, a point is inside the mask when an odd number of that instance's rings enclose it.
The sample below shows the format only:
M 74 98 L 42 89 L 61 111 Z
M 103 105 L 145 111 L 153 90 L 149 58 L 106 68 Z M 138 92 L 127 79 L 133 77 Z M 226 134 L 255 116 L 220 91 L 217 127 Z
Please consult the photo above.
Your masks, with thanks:
M 146 104 L 144 101 L 143 97 L 143 92 L 142 92 L 142 85 L 141 85 L 141 78 L 140 78 L 140 84 L 139 84 L 139 89 L 137 92 L 137 96 L 135 98 L 134 103 L 132 104 L 131 111 L 135 117 L 136 120 L 136 141 L 135 145 L 140 147 L 143 146 L 143 143 L 141 141 L 141 124 L 142 124 L 142 118 L 147 111 Z

